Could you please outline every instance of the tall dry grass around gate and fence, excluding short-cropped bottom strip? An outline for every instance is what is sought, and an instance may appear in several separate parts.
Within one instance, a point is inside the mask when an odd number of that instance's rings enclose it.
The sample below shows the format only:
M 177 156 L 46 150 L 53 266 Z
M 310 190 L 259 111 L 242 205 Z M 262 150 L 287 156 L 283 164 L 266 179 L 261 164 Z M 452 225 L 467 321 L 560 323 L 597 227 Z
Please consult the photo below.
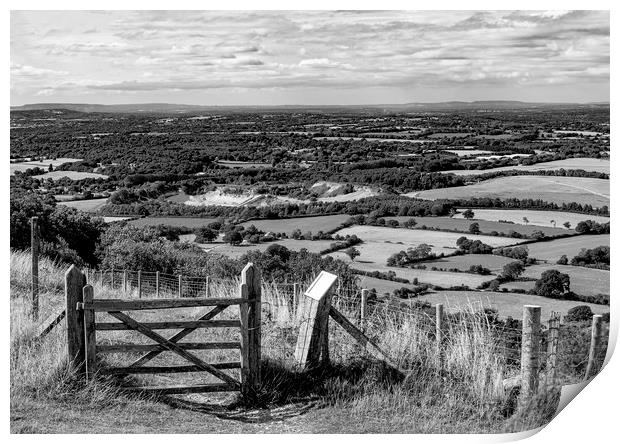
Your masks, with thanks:
M 64 303 L 63 276 L 66 266 L 44 262 L 41 274 L 46 291 L 41 293 L 42 318 Z M 127 398 L 118 381 L 101 379 L 84 385 L 75 378 L 66 361 L 65 331 L 58 326 L 44 341 L 34 343 L 36 323 L 29 310 L 29 255 L 11 254 L 11 403 L 41 399 L 105 408 L 117 403 L 150 402 Z M 14 267 L 14 268 L 13 268 Z M 234 297 L 237 281 L 213 282 L 213 297 Z M 302 288 L 305 288 L 302 285 Z M 120 297 L 120 290 L 94 282 L 95 297 Z M 162 295 L 165 296 L 165 295 Z M 123 295 L 132 297 L 132 294 Z M 137 297 L 135 293 L 133 297 Z M 507 421 L 511 400 L 502 380 L 510 376 L 496 336 L 484 315 L 471 313 L 467 321 L 450 323 L 441 347 L 437 347 L 432 323 L 415 311 L 377 308 L 365 323 L 365 333 L 404 372 L 371 359 L 339 326 L 330 322 L 331 365 L 314 372 L 299 372 L 294 349 L 301 310 L 293 305 L 291 289 L 275 283 L 263 285 L 262 355 L 263 385 L 259 402 L 265 406 L 303 399 L 319 400 L 332 409 L 335 418 L 360 425 L 360 431 L 379 432 L 498 432 L 541 425 L 540 415 L 521 415 Z M 357 322 L 359 306 L 347 297 L 335 297 L 334 305 Z M 140 321 L 165 320 L 167 310 L 133 312 Z M 195 319 L 204 309 L 175 310 L 174 317 Z M 235 318 L 234 307 L 222 313 Z M 220 316 L 222 316 L 220 315 Z M 464 318 L 465 319 L 465 318 Z M 103 319 L 101 319 L 103 320 Z M 235 329 L 199 330 L 186 341 L 238 340 Z M 100 343 L 150 341 L 136 332 L 98 333 Z M 441 350 L 440 352 L 438 350 Z M 236 350 L 197 352 L 208 362 L 238 359 Z M 100 365 L 128 365 L 127 354 L 105 355 Z M 152 365 L 187 364 L 171 353 L 162 353 Z M 235 372 L 235 371 L 233 371 Z M 132 384 L 176 385 L 213 381 L 209 375 L 189 373 L 131 378 Z M 150 379 L 149 379 L 150 378 Z M 129 399 L 129 400 L 128 400 Z M 547 410 L 547 397 L 540 401 Z M 536 409 L 536 406 L 533 407 Z

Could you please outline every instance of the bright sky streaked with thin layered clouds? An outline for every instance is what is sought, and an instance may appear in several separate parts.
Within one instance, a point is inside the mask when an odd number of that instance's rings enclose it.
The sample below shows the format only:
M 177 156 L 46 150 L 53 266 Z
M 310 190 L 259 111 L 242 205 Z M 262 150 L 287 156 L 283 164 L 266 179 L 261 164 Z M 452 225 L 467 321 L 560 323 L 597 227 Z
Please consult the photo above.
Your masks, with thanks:
M 12 11 L 11 105 L 609 101 L 608 11 Z

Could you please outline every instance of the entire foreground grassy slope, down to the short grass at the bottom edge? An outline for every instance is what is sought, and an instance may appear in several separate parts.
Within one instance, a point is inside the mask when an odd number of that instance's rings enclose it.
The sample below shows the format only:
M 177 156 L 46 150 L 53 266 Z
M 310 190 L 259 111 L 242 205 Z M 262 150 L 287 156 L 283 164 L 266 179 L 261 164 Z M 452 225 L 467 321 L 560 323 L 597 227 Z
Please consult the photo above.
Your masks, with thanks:
M 332 366 L 322 374 L 293 371 L 292 351 L 300 319 L 273 287 L 264 288 L 263 390 L 258 407 L 235 407 L 231 395 L 179 396 L 166 399 L 128 397 L 118 382 L 101 379 L 84 384 L 66 365 L 64 334 L 57 328 L 40 345 L 30 343 L 35 324 L 29 319 L 28 255 L 11 256 L 11 428 L 13 432 L 498 432 L 535 427 L 544 419 L 506 419 L 509 400 L 501 388 L 508 367 L 485 322 L 450 324 L 445 367 L 439 371 L 433 327 L 424 317 L 374 311 L 367 333 L 400 366 L 398 374 L 360 356 L 360 349 L 330 323 Z M 42 261 L 42 316 L 62 306 L 64 267 Z M 222 285 L 214 296 L 235 294 Z M 95 283 L 96 297 L 118 297 Z M 346 300 L 336 301 L 350 319 Z M 355 307 L 351 307 L 355 309 Z M 186 313 L 194 317 L 197 313 Z M 161 313 L 157 314 L 162 316 Z M 144 312 L 140 319 L 150 319 Z M 178 316 L 178 315 L 177 315 Z M 229 316 L 235 316 L 229 313 Z M 160 318 L 161 319 L 161 318 Z M 210 332 L 210 340 L 233 333 Z M 202 333 L 205 334 L 205 333 Z M 213 334 L 218 335 L 217 338 Z M 124 332 L 108 337 L 126 342 Z M 99 338 L 104 340 L 103 337 Z M 135 341 L 132 339 L 131 342 Z M 191 339 L 189 339 L 191 340 Z M 198 337 L 200 340 L 200 337 Z M 234 352 L 233 352 L 234 353 Z M 115 357 L 106 357 L 109 364 Z M 124 356 L 127 363 L 127 356 Z M 168 357 L 164 363 L 171 363 Z M 230 359 L 230 356 L 212 356 Z M 196 376 L 184 378 L 195 381 Z M 175 378 L 176 379 L 176 378 Z M 131 380 L 130 380 L 131 382 Z M 137 381 L 133 382 L 134 384 Z M 141 382 L 142 383 L 142 382 Z M 140 384 L 141 384 L 140 383 Z M 232 395 L 234 396 L 234 395 Z

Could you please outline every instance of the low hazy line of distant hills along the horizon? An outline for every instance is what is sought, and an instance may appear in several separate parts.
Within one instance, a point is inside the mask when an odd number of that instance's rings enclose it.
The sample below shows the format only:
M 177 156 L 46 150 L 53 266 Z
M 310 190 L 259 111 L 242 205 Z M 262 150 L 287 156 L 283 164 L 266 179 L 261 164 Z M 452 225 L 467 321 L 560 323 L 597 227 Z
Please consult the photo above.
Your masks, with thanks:
M 524 108 L 609 107 L 609 103 L 533 103 L 514 100 L 475 102 L 403 103 L 378 105 L 279 105 L 279 106 L 218 106 L 183 105 L 173 103 L 136 103 L 100 105 L 90 103 L 32 103 L 12 106 L 11 111 L 69 110 L 85 113 L 196 113 L 196 112 L 261 112 L 261 111 L 432 111 L 432 110 L 504 110 Z

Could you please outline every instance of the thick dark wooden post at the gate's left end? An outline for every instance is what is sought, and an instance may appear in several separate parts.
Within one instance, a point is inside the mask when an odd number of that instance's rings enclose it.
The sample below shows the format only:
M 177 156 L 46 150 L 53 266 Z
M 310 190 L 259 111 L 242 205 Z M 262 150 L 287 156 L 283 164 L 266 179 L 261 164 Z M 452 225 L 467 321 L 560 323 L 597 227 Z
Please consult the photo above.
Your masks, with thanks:
M 83 288 L 86 276 L 75 265 L 65 273 L 65 314 L 67 318 L 67 352 L 73 366 L 82 373 L 84 370 L 84 318 L 77 310 L 78 302 L 83 301 Z

